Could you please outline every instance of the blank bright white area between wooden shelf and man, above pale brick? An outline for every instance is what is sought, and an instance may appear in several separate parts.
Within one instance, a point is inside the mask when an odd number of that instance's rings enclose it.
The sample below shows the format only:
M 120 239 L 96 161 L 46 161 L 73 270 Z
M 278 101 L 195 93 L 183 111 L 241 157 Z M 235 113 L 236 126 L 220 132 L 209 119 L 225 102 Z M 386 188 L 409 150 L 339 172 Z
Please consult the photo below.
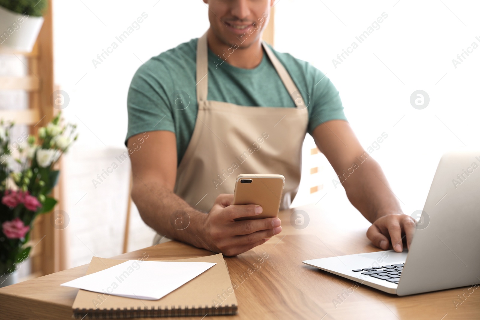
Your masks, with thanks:
M 134 72 L 152 56 L 201 36 L 209 25 L 207 7 L 200 0 L 57 0 L 54 5 L 55 80 L 71 98 L 65 115 L 82 130 L 76 147 L 120 147 Z M 115 37 L 143 12 L 148 17 L 140 28 L 119 43 Z M 119 47 L 95 68 L 92 59 L 114 41 Z

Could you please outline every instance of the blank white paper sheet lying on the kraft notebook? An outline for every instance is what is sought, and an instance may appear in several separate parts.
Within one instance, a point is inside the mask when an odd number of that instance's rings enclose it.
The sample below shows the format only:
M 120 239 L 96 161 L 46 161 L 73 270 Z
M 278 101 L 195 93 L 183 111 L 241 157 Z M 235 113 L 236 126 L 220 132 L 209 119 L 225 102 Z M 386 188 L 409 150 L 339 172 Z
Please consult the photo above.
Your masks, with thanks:
M 113 296 L 158 300 L 215 264 L 129 260 L 60 285 Z

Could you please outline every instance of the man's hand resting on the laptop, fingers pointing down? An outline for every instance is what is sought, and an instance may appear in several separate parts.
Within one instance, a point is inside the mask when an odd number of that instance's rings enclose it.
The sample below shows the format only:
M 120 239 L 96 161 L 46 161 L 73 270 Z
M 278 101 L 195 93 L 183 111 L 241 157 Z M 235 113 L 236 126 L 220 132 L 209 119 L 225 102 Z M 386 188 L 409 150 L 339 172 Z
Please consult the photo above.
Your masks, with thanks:
M 415 231 L 415 219 L 403 213 L 392 213 L 381 216 L 367 230 L 367 237 L 378 248 L 388 250 L 390 243 L 396 252 L 403 251 L 403 241 L 407 249 L 412 242 Z

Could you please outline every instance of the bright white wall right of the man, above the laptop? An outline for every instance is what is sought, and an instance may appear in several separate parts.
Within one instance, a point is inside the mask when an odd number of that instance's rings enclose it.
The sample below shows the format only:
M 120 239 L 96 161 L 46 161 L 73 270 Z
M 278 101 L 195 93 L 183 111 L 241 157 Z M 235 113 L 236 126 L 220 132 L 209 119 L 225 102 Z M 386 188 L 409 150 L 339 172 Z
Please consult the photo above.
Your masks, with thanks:
M 471 0 L 277 1 L 276 49 L 326 73 L 365 148 L 388 134 L 372 157 L 407 214 L 422 209 L 442 153 L 480 149 L 480 47 L 457 68 L 452 63 L 472 42 L 480 45 L 479 11 Z M 382 12 L 380 29 L 356 40 Z M 353 41 L 359 47 L 335 68 L 332 59 Z M 409 102 L 419 89 L 430 96 L 422 110 Z M 318 199 L 342 192 L 327 181 Z

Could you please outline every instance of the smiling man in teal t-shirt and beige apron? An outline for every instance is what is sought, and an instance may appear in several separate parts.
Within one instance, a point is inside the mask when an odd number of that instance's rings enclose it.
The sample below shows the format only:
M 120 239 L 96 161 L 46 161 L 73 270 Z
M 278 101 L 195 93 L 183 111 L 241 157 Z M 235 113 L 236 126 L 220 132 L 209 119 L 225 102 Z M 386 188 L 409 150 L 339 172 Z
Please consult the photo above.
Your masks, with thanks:
M 288 208 L 309 132 L 337 174 L 356 165 L 343 186 L 372 222 L 372 243 L 402 251 L 403 239 L 409 246 L 415 222 L 360 146 L 334 85 L 309 63 L 262 44 L 274 0 L 204 2 L 207 33 L 147 61 L 130 87 L 127 145 L 142 143 L 131 154 L 132 199 L 144 222 L 164 237 L 228 256 L 263 244 L 281 232 L 281 222 L 235 222 L 262 212 L 232 205 L 235 178 L 284 175 L 281 209 Z

